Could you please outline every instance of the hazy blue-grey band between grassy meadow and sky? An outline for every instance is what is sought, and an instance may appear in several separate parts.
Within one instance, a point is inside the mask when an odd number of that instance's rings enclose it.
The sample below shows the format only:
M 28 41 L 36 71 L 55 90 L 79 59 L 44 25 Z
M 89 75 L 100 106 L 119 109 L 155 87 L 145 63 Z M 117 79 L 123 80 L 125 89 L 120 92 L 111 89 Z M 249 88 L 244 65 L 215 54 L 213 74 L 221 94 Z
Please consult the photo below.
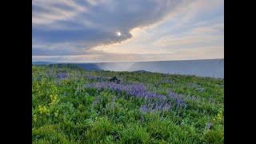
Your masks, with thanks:
M 224 78 L 224 59 L 159 62 L 79 63 L 78 66 L 86 70 L 146 70 L 163 74 L 190 74 L 201 77 Z

